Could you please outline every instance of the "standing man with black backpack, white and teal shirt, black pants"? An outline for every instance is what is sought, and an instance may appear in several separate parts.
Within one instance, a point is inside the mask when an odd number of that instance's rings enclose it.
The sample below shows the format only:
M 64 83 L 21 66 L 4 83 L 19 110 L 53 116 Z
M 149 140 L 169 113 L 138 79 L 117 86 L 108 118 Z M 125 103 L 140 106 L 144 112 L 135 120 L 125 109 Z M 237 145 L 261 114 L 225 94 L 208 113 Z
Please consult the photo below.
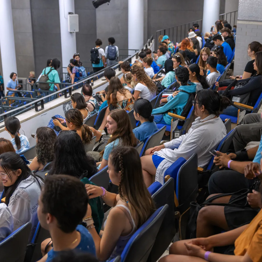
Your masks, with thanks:
M 96 40 L 96 47 L 91 49 L 91 63 L 94 73 L 102 70 L 106 67 L 105 51 L 100 46 L 102 45 L 102 40 Z

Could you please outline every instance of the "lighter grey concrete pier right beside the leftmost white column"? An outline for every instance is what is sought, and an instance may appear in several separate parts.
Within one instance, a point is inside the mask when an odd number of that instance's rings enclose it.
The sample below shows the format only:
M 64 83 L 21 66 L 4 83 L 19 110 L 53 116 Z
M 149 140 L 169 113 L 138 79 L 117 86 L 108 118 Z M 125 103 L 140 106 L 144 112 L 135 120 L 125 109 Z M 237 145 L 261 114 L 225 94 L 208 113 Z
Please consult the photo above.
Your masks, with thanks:
M 30 0 L 11 0 L 18 77 L 35 70 Z

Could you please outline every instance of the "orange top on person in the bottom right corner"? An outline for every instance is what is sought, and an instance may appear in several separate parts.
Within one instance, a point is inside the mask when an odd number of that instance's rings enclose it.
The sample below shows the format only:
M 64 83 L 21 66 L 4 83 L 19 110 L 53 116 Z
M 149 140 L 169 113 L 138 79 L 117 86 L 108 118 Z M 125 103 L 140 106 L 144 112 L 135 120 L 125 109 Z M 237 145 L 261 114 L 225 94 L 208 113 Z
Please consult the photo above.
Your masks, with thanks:
M 262 262 L 262 209 L 235 241 L 234 254 L 243 256 L 246 252 L 253 262 Z

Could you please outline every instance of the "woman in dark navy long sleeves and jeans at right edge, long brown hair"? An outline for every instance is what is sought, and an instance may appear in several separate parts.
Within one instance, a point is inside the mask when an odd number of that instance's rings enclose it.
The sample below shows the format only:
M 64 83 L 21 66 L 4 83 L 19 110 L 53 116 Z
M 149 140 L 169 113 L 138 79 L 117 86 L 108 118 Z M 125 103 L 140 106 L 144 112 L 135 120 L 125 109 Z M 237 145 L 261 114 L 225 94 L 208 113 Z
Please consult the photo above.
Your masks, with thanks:
M 238 83 L 243 81 L 246 82 L 241 88 L 229 90 L 227 95 L 243 95 L 250 93 L 247 105 L 254 106 L 258 97 L 261 94 L 261 87 L 262 87 L 262 51 L 256 52 L 255 61 L 254 61 L 254 69 L 257 71 L 257 74 L 253 77 L 247 79 L 238 80 Z M 222 91 L 219 91 L 222 92 Z M 234 106 L 228 107 L 226 110 L 223 111 L 223 114 L 228 114 L 230 116 L 237 117 L 238 108 Z

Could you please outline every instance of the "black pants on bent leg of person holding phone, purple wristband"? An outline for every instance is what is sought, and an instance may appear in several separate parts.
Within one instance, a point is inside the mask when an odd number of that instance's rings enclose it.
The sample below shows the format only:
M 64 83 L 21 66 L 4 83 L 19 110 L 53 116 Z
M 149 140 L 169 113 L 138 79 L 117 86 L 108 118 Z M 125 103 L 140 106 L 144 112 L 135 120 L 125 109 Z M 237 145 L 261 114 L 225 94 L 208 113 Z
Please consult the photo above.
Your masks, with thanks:
M 208 182 L 209 194 L 234 193 L 253 185 L 254 179 L 245 178 L 233 170 L 220 170 L 211 175 Z

